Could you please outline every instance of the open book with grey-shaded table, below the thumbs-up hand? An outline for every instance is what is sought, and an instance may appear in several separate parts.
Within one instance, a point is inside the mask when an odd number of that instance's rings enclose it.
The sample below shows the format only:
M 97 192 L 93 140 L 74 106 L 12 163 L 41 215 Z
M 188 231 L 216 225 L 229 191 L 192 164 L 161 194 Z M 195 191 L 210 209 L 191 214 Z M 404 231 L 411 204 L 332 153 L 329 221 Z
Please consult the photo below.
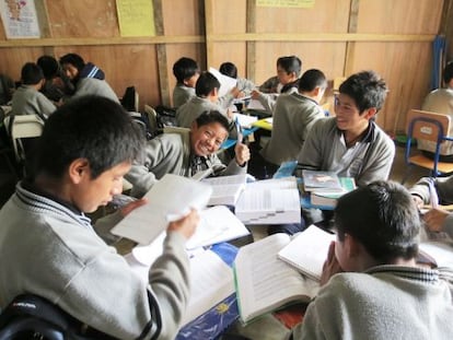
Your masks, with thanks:
M 295 177 L 247 184 L 234 212 L 245 224 L 300 223 L 301 203 Z

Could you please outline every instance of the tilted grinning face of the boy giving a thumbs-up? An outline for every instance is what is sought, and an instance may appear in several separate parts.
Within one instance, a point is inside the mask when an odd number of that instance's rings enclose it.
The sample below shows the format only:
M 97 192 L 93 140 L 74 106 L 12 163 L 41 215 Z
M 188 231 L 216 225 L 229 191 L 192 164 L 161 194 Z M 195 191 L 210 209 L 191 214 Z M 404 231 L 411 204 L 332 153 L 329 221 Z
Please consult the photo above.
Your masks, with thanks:
M 228 137 L 228 131 L 219 122 L 210 122 L 201 127 L 194 121 L 190 130 L 191 151 L 197 156 L 207 156 L 222 145 Z

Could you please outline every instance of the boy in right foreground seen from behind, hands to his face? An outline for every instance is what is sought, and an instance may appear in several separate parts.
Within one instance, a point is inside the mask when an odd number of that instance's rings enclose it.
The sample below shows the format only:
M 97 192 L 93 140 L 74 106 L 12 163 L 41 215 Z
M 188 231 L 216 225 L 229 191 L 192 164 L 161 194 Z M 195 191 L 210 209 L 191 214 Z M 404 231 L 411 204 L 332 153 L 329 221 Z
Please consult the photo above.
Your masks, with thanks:
M 417 265 L 420 220 L 403 186 L 345 195 L 335 224 L 322 289 L 291 339 L 453 337 L 453 270 Z

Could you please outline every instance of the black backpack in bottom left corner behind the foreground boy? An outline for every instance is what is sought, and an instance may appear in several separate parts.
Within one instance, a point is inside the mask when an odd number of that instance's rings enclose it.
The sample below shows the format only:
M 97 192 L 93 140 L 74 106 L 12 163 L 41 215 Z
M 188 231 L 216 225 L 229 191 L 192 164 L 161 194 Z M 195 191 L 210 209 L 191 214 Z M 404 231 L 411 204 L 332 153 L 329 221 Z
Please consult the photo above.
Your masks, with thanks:
M 47 300 L 23 294 L 0 315 L 0 340 L 91 340 L 115 339 L 80 323 Z

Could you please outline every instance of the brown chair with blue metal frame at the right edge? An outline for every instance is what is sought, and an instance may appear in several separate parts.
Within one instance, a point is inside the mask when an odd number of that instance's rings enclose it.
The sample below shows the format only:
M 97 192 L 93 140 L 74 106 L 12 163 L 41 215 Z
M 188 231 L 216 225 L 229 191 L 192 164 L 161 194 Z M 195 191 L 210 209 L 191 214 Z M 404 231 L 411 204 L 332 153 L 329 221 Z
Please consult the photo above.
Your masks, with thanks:
M 417 165 L 430 171 L 431 177 L 441 174 L 453 173 L 453 163 L 439 162 L 440 146 L 444 141 L 453 141 L 452 137 L 445 134 L 450 131 L 450 116 L 431 112 L 411 109 L 407 115 L 407 141 L 405 161 L 407 166 L 406 174 L 402 184 L 406 181 L 413 165 Z M 434 159 L 430 159 L 421 153 L 411 151 L 413 139 L 435 142 Z

